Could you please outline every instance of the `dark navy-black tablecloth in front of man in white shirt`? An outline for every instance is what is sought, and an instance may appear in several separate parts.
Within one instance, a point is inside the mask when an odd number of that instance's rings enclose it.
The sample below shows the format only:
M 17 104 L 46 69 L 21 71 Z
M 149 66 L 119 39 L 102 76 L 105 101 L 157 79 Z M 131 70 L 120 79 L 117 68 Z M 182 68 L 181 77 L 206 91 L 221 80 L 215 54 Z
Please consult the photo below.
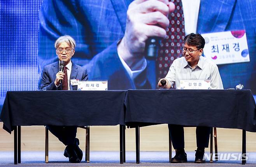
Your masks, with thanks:
M 179 124 L 256 132 L 251 90 L 128 90 L 126 125 Z

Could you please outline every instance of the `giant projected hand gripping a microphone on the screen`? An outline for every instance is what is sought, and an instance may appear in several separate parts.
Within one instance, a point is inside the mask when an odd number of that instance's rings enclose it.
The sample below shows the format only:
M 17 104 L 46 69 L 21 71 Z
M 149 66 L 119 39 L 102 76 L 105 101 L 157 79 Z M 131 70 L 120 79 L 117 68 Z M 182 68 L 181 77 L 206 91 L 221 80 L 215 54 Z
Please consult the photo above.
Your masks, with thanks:
M 168 14 L 175 5 L 168 0 L 130 3 L 124 37 L 117 46 L 118 55 L 133 70 L 141 70 L 144 57 L 156 60 L 160 40 L 167 38 Z

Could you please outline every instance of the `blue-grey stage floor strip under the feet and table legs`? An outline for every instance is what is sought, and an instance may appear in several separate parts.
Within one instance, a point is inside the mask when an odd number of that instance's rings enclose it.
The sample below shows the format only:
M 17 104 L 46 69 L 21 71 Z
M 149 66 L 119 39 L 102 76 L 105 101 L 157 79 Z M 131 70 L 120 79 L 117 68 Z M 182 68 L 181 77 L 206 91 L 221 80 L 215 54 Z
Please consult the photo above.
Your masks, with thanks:
M 229 152 L 234 155 L 238 155 L 239 152 Z M 206 164 L 194 164 L 195 151 L 189 151 L 188 154 L 188 163 L 182 164 L 170 164 L 168 159 L 168 151 L 141 151 L 140 153 L 140 164 L 136 164 L 136 155 L 135 151 L 126 152 L 126 163 L 119 164 L 119 152 L 118 151 L 91 151 L 90 152 L 90 163 L 85 162 L 85 158 L 80 164 L 70 164 L 68 158 L 63 156 L 63 151 L 50 151 L 49 152 L 49 163 L 44 162 L 44 151 L 23 151 L 21 152 L 21 164 L 13 164 L 13 152 L 12 151 L 0 151 L 0 166 L 115 166 L 115 167 L 130 167 L 130 166 L 184 166 L 184 167 L 245 167 L 245 166 L 256 166 L 256 152 L 248 153 L 248 160 L 246 165 L 241 165 L 240 160 L 234 160 L 230 156 L 228 158 L 227 152 L 221 152 L 220 158 L 222 160 L 214 161 L 210 163 L 209 160 L 206 161 Z M 209 154 L 209 152 L 206 152 Z M 226 155 L 225 155 L 226 154 Z M 174 152 L 173 152 L 174 155 Z M 225 156 L 224 156 L 225 155 Z

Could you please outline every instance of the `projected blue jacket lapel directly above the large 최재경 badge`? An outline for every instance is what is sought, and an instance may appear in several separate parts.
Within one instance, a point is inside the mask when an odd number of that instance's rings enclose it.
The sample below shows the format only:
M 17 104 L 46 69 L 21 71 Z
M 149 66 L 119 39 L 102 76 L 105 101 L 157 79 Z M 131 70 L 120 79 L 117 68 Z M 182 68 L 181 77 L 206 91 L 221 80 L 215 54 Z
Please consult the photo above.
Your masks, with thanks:
M 225 31 L 236 0 L 201 0 L 197 33 Z

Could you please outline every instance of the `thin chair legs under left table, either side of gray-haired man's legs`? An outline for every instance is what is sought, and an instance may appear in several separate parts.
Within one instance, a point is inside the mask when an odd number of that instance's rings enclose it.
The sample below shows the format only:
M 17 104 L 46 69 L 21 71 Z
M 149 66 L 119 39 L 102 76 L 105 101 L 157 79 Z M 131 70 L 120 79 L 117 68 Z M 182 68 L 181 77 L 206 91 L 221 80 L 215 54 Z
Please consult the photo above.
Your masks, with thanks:
M 78 126 L 79 128 L 85 129 L 85 161 L 90 162 L 90 127 L 89 126 Z M 45 127 L 45 162 L 49 162 L 49 130 Z

